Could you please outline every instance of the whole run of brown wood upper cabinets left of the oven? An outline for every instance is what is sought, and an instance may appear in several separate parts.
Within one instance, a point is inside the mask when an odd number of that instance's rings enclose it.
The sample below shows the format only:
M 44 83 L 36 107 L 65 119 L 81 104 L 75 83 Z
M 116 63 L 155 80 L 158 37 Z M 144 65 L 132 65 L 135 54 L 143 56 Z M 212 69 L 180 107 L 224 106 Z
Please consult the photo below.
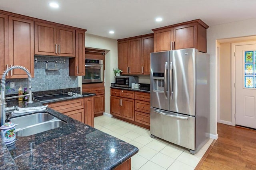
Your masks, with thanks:
M 21 65 L 34 77 L 34 55 L 70 57 L 70 76 L 85 75 L 85 31 L 0 10 L 0 72 Z M 27 78 L 14 69 L 6 78 Z

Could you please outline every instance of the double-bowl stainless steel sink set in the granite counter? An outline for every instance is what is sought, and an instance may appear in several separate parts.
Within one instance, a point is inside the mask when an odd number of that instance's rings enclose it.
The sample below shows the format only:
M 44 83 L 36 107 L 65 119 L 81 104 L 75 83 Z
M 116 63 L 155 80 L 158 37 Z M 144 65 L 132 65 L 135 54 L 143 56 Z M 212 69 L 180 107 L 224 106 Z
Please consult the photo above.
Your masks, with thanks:
M 46 112 L 12 118 L 11 121 L 17 124 L 16 135 L 18 137 L 34 135 L 66 124 Z

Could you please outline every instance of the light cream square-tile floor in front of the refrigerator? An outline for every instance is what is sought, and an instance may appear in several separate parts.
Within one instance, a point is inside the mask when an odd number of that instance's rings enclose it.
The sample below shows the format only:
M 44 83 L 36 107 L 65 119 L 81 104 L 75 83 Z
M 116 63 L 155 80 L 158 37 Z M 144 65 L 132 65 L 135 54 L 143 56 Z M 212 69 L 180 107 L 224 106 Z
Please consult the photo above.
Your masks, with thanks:
M 94 118 L 94 127 L 138 147 L 132 170 L 193 170 L 213 139 L 195 155 L 182 147 L 150 137 L 150 131 L 105 115 Z

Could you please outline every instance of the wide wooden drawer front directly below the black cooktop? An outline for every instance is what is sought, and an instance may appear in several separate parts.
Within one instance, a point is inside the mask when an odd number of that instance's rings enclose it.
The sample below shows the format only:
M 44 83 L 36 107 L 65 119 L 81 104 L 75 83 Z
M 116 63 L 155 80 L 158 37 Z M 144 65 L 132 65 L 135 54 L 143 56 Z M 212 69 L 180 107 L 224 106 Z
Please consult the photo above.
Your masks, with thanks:
M 66 113 L 73 110 L 84 109 L 84 99 L 68 100 L 65 102 L 56 102 L 48 104 L 48 107 L 60 113 Z

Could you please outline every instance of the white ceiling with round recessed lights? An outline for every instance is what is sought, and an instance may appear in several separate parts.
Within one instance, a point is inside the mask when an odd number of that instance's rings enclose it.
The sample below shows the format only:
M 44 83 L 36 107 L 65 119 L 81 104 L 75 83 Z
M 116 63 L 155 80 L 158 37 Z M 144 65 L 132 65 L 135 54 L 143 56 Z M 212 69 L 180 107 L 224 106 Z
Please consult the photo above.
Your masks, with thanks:
M 60 7 L 50 8 L 50 2 Z M 198 18 L 209 26 L 256 18 L 256 0 L 0 0 L 0 9 L 112 39 Z M 157 17 L 163 21 L 157 23 Z M 115 33 L 109 34 L 110 30 Z

